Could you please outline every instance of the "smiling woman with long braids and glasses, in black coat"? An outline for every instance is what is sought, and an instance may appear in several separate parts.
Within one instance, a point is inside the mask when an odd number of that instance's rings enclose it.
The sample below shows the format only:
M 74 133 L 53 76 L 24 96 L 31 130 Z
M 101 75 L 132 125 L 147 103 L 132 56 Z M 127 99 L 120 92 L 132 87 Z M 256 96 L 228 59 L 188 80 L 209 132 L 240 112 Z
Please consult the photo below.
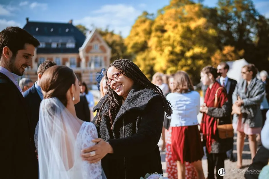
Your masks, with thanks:
M 171 104 L 133 62 L 114 61 L 106 72 L 108 94 L 94 107 L 92 121 L 100 138 L 82 151 L 89 162 L 102 159 L 109 178 L 140 178 L 163 173 L 158 142 L 164 112 Z

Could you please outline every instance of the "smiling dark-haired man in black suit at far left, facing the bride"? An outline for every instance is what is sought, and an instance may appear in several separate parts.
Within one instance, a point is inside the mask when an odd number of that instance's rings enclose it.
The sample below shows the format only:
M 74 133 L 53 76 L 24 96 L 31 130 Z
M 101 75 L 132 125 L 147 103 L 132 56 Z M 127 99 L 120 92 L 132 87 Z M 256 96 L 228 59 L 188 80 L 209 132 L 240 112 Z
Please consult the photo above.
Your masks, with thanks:
M 40 43 L 19 27 L 0 32 L 0 178 L 38 179 L 30 116 L 16 79 L 32 65 Z

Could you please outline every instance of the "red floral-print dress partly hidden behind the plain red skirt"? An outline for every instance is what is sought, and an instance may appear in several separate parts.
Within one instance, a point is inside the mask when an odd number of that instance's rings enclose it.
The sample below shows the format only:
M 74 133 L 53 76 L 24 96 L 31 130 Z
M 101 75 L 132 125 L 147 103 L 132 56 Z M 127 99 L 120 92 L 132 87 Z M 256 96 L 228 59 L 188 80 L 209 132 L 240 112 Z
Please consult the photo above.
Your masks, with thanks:
M 171 152 L 171 127 L 169 130 L 165 130 L 165 141 L 166 141 L 166 172 L 167 178 L 177 179 L 177 163 L 172 159 Z M 198 179 L 197 172 L 192 164 L 185 162 L 185 178 L 186 179 Z

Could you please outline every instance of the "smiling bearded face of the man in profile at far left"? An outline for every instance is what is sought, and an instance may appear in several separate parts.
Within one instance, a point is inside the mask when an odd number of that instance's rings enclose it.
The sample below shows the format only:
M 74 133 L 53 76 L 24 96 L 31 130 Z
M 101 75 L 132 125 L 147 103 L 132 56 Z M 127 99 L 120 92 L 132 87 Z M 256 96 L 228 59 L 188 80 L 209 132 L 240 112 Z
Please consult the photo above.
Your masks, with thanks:
M 18 50 L 16 56 L 14 56 L 15 54 L 13 54 L 10 50 L 8 50 L 8 53 L 5 53 L 8 56 L 8 70 L 19 76 L 23 75 L 25 68 L 32 65 L 32 57 L 35 52 L 35 47 L 33 45 L 25 44 L 24 47 L 24 49 Z

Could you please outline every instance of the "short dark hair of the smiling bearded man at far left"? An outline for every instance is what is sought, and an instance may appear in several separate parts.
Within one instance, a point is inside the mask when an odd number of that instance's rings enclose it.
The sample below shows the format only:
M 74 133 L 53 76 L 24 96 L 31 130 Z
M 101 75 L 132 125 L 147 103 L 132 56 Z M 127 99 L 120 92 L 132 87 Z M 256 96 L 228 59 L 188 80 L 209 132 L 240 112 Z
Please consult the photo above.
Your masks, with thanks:
M 12 56 L 15 57 L 19 50 L 25 48 L 26 43 L 34 47 L 40 45 L 39 41 L 24 29 L 19 27 L 7 27 L 0 32 L 0 58 L 4 47 L 8 47 L 12 52 Z

